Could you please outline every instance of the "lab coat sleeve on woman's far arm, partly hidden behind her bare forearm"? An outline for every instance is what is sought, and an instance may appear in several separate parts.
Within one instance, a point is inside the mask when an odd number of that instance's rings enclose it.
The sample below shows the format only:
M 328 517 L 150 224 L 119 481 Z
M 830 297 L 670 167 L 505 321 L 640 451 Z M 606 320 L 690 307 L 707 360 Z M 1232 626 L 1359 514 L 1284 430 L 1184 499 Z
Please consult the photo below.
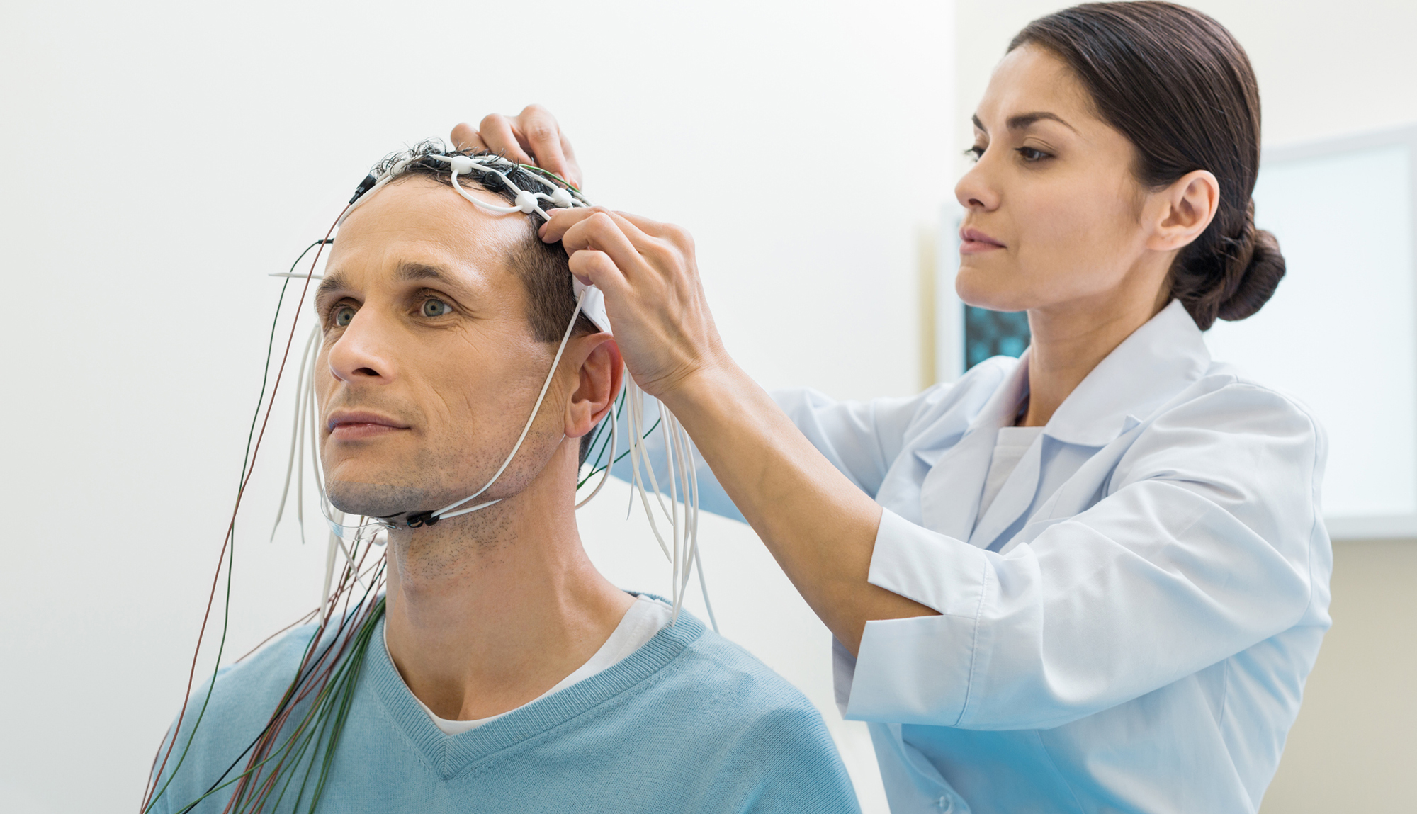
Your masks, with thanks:
M 812 445 L 853 484 L 874 498 L 891 461 L 904 448 L 907 433 L 917 423 L 917 416 L 922 408 L 938 404 L 947 391 L 948 386 L 939 384 L 905 398 L 836 401 L 816 390 L 795 389 L 775 390 L 772 400 L 812 441 Z M 657 417 L 659 403 L 646 400 L 645 425 L 653 425 Z M 622 438 L 629 437 L 629 428 L 623 418 L 621 418 L 619 431 Z M 655 467 L 655 478 L 660 484 L 666 484 L 669 465 L 665 457 L 665 437 L 659 430 L 645 438 L 645 450 L 649 462 Z M 704 464 L 697 445 L 693 448 L 693 454 L 694 471 L 699 475 L 699 508 L 734 520 L 744 520 L 743 513 L 718 484 L 713 469 Z M 611 474 L 622 481 L 629 481 L 629 458 L 615 464 Z

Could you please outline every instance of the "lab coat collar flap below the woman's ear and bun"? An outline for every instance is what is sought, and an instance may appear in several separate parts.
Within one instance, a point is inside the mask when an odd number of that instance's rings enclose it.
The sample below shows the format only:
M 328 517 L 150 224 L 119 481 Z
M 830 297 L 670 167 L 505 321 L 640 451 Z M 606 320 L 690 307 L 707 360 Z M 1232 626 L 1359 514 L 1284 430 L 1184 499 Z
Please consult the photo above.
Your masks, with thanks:
M 1043 434 L 1064 444 L 1105 447 L 1209 367 L 1210 350 L 1200 329 L 1173 299 L 1083 379 Z

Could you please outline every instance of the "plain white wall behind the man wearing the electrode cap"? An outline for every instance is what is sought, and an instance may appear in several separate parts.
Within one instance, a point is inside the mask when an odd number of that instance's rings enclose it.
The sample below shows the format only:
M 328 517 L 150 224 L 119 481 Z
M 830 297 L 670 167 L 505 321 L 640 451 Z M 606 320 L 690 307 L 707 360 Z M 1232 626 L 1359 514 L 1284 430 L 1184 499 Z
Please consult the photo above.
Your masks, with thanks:
M 595 200 L 693 230 L 761 381 L 911 391 L 914 228 L 951 186 L 949 7 L 9 4 L 0 808 L 136 804 L 231 511 L 265 274 L 404 142 L 546 104 Z M 228 654 L 317 601 L 319 546 L 265 540 L 282 435 L 237 523 Z M 667 590 L 622 499 L 585 516 L 588 546 Z M 744 526 L 704 536 L 724 632 L 829 709 L 825 628 Z M 879 808 L 860 729 L 828 720 Z

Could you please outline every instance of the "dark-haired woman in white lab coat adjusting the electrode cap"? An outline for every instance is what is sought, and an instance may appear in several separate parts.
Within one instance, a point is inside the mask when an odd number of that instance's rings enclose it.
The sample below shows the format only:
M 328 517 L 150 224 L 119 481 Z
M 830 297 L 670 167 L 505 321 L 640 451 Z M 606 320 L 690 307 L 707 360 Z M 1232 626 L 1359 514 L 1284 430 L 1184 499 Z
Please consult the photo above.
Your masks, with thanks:
M 572 167 L 544 112 L 483 125 L 455 139 Z M 955 191 L 959 295 L 1026 309 L 1032 347 L 914 398 L 774 401 L 723 350 L 683 230 L 543 227 L 836 635 L 893 811 L 1258 808 L 1332 567 L 1322 430 L 1202 339 L 1284 274 L 1258 145 L 1248 58 L 1210 17 L 1029 24 Z

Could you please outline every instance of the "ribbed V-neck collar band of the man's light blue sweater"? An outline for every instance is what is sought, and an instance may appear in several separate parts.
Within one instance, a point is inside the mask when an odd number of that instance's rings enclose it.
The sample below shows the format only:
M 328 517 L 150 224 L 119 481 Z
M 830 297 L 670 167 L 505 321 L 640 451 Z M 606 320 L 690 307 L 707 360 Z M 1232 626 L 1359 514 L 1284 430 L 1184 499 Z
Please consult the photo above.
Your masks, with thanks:
M 533 701 L 526 706 L 459 735 L 444 735 L 404 684 L 384 647 L 384 620 L 378 620 L 366 655 L 366 678 L 393 725 L 404 733 L 444 780 L 503 750 L 553 732 L 560 725 L 605 703 L 616 695 L 650 681 L 704 632 L 704 625 L 686 611 L 643 647 L 584 681 Z

